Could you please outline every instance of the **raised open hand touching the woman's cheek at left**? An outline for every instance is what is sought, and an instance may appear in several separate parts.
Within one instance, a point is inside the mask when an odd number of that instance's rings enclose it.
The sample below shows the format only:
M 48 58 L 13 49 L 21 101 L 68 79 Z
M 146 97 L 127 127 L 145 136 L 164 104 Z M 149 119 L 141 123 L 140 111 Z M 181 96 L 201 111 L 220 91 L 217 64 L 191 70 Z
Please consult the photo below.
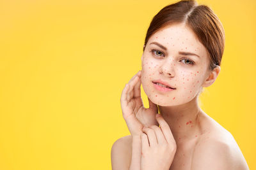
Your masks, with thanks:
M 131 135 L 140 135 L 144 126 L 159 125 L 156 121 L 157 105 L 148 99 L 149 108 L 143 106 L 140 85 L 141 71 L 125 85 L 120 99 L 123 117 Z

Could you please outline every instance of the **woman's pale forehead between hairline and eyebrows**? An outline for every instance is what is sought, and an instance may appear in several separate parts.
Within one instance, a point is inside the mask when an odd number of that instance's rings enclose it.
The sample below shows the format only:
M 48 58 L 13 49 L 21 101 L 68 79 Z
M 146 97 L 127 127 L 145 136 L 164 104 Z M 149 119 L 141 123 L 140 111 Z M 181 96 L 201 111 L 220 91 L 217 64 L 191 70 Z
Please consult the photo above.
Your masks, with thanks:
M 196 53 L 202 58 L 207 57 L 207 49 L 199 41 L 195 32 L 185 24 L 172 24 L 162 27 L 148 39 L 149 43 L 153 41 L 161 43 L 172 52 L 173 50 L 183 49 L 186 52 Z

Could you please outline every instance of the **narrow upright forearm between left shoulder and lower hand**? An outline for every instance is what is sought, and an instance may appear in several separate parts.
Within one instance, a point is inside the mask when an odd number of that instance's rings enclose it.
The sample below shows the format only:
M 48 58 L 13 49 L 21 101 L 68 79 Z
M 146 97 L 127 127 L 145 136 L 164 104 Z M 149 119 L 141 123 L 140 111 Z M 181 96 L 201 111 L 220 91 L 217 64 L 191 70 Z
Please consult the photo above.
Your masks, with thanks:
M 132 156 L 129 170 L 141 169 L 141 139 L 140 136 L 132 136 Z

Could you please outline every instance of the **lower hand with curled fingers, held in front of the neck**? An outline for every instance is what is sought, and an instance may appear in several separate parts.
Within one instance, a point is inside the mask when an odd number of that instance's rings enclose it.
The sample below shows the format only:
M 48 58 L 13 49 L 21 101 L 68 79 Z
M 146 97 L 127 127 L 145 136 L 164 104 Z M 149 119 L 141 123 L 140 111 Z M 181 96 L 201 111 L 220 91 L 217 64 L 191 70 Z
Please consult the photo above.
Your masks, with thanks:
M 157 115 L 160 127 L 144 127 L 141 134 L 141 170 L 168 170 L 177 150 L 169 125 Z

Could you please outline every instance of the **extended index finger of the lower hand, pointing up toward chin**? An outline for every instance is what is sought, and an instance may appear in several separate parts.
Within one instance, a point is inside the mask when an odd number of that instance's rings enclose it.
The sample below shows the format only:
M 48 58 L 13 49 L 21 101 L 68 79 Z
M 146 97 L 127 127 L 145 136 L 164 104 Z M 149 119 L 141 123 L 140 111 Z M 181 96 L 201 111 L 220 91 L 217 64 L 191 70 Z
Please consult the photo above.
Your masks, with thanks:
M 166 139 L 166 141 L 172 145 L 173 143 L 175 143 L 175 139 L 173 138 L 173 134 L 172 131 L 169 127 L 169 125 L 167 124 L 167 122 L 165 122 L 164 118 L 162 117 L 162 115 L 160 114 L 156 114 L 156 120 L 160 125 L 160 128 L 164 134 L 164 138 Z

